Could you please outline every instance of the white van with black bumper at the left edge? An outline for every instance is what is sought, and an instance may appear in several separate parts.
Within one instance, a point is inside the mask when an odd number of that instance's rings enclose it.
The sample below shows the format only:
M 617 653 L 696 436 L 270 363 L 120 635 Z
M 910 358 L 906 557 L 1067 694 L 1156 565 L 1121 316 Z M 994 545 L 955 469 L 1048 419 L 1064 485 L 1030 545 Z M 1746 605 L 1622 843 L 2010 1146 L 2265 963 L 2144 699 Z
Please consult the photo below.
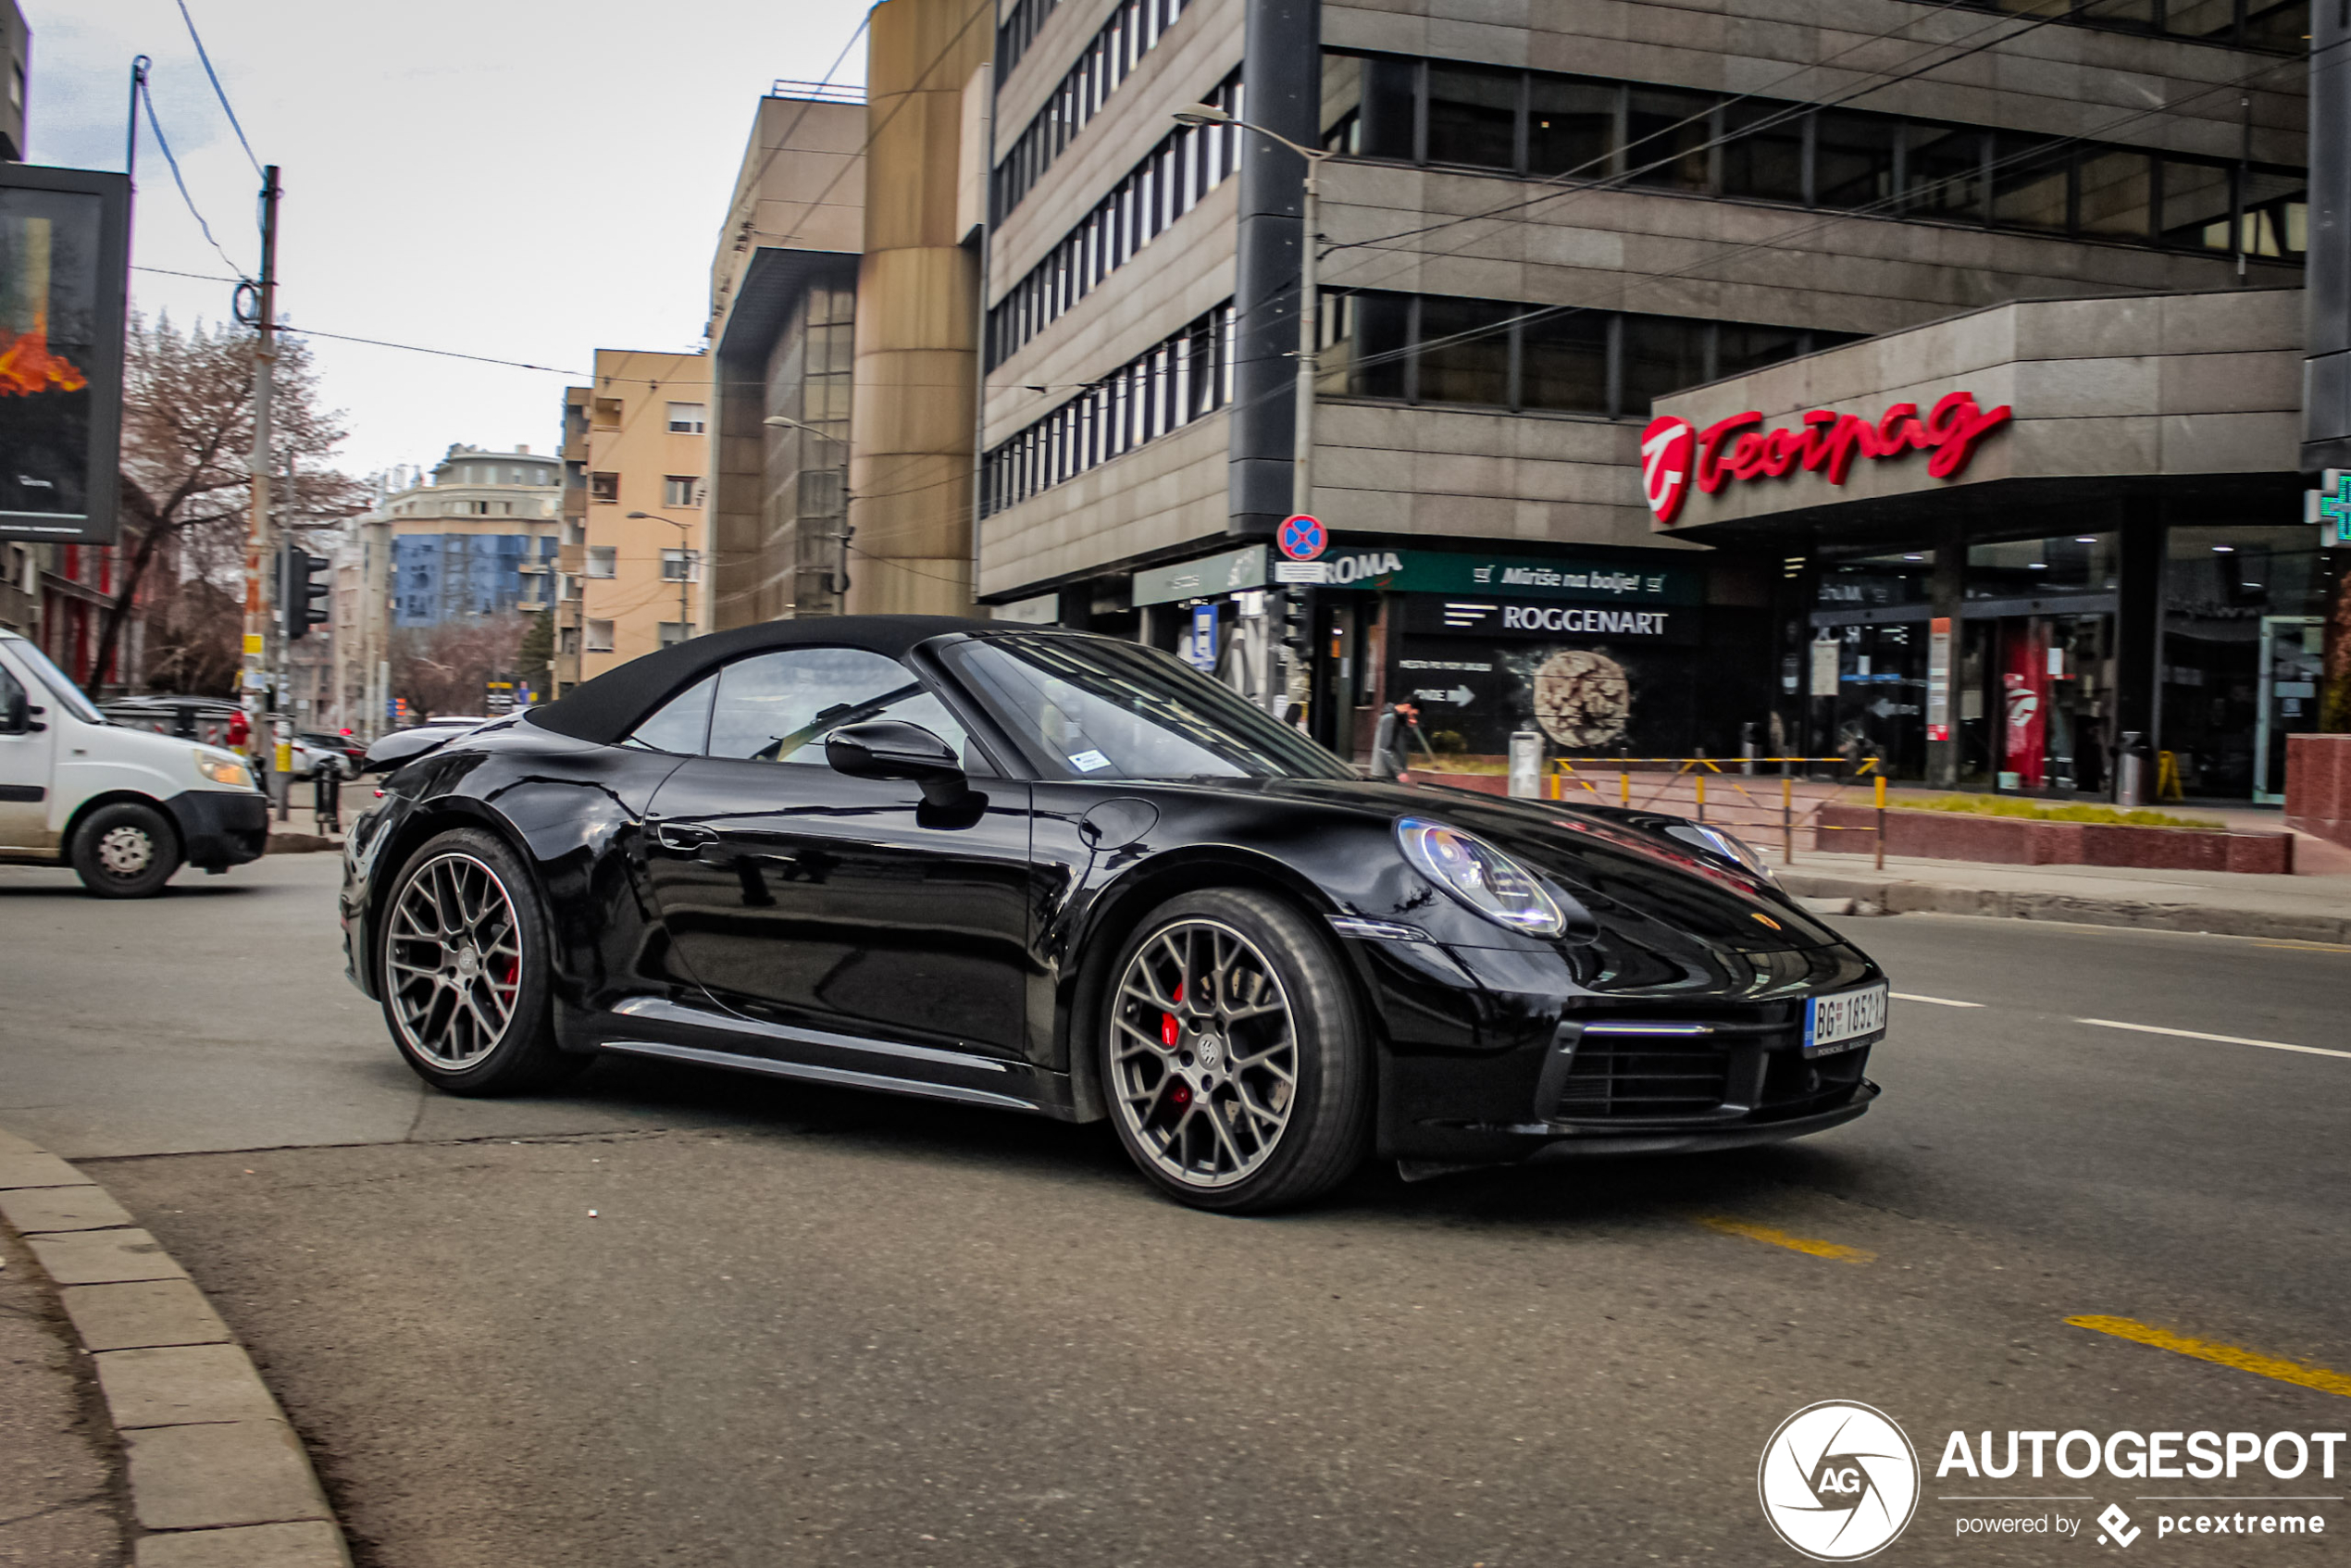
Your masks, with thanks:
M 268 846 L 245 759 L 108 724 L 49 656 L 0 632 L 0 865 L 71 865 L 99 898 L 148 898 L 181 865 Z

